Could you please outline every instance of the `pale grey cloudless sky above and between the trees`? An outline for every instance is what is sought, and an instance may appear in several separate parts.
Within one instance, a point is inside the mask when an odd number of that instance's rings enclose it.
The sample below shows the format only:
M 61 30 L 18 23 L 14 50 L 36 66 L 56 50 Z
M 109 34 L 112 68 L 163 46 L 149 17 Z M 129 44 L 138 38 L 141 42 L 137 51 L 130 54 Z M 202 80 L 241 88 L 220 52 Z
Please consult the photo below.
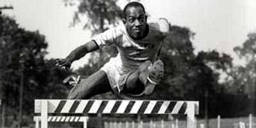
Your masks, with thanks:
M 230 54 L 235 65 L 239 61 L 233 48 L 242 45 L 248 33 L 256 31 L 255 0 L 141 0 L 150 14 L 148 22 L 165 17 L 172 25 L 187 27 L 196 35 L 191 41 L 198 51 L 216 50 Z M 124 8 L 126 0 L 119 0 Z M 90 31 L 83 24 L 70 27 L 76 6 L 65 6 L 63 0 L 0 0 L 0 6 L 12 5 L 5 10 L 20 27 L 38 30 L 49 44 L 47 58 L 65 58 L 67 54 L 88 42 Z M 86 63 L 86 57 L 76 61 L 73 68 Z

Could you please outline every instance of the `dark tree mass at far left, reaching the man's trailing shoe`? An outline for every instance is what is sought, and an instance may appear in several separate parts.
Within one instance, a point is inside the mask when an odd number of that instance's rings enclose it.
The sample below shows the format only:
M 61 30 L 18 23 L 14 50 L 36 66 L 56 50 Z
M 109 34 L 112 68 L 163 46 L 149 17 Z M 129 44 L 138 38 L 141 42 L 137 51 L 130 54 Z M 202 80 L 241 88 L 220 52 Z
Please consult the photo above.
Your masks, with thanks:
M 0 18 L 1 99 L 4 106 L 8 106 L 6 114 L 17 120 L 20 96 L 20 102 L 26 106 L 23 108 L 24 115 L 33 113 L 36 98 L 64 97 L 67 88 L 60 83 L 68 72 L 51 68 L 52 60 L 45 60 L 47 42 L 38 31 L 20 28 L 10 17 L 1 15 Z

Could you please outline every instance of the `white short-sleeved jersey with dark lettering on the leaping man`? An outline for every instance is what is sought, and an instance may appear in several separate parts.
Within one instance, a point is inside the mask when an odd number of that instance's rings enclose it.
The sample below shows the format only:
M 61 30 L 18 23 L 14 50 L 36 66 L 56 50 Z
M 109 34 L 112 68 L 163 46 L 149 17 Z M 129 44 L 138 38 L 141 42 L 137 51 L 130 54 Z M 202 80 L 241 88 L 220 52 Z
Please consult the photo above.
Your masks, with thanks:
M 115 45 L 118 55 L 117 63 L 121 63 L 123 73 L 137 70 L 144 61 L 155 61 L 161 49 L 164 37 L 168 34 L 169 25 L 166 19 L 148 24 L 148 35 L 141 40 L 133 40 L 127 33 L 124 24 L 108 29 L 92 38 L 99 47 Z

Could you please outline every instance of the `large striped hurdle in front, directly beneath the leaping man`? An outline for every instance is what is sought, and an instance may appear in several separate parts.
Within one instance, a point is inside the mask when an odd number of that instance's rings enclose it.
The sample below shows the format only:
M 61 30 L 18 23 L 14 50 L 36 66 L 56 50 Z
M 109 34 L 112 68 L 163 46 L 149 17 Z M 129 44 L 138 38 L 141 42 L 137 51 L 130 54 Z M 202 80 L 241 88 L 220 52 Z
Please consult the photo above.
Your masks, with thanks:
M 195 128 L 198 101 L 179 100 L 35 100 L 41 128 L 48 127 L 48 114 L 172 114 L 186 115 L 187 128 Z M 87 120 L 87 119 L 86 119 Z M 85 125 L 86 126 L 86 125 Z M 86 127 L 84 127 L 86 128 Z

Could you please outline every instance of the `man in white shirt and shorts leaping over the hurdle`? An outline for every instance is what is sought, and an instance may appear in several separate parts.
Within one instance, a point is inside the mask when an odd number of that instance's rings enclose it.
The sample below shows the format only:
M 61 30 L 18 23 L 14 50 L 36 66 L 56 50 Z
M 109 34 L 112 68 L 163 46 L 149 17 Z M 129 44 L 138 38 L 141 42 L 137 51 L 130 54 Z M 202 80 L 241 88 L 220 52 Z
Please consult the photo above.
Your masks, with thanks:
M 157 57 L 169 31 L 168 21 L 161 18 L 156 23 L 148 24 L 144 6 L 131 2 L 124 8 L 123 23 L 93 37 L 65 59 L 56 60 L 57 66 L 69 69 L 73 61 L 104 45 L 115 45 L 118 49 L 117 56 L 91 76 L 64 79 L 64 84 L 74 86 L 68 99 L 90 99 L 110 91 L 131 97 L 152 94 L 164 74 L 163 62 Z

